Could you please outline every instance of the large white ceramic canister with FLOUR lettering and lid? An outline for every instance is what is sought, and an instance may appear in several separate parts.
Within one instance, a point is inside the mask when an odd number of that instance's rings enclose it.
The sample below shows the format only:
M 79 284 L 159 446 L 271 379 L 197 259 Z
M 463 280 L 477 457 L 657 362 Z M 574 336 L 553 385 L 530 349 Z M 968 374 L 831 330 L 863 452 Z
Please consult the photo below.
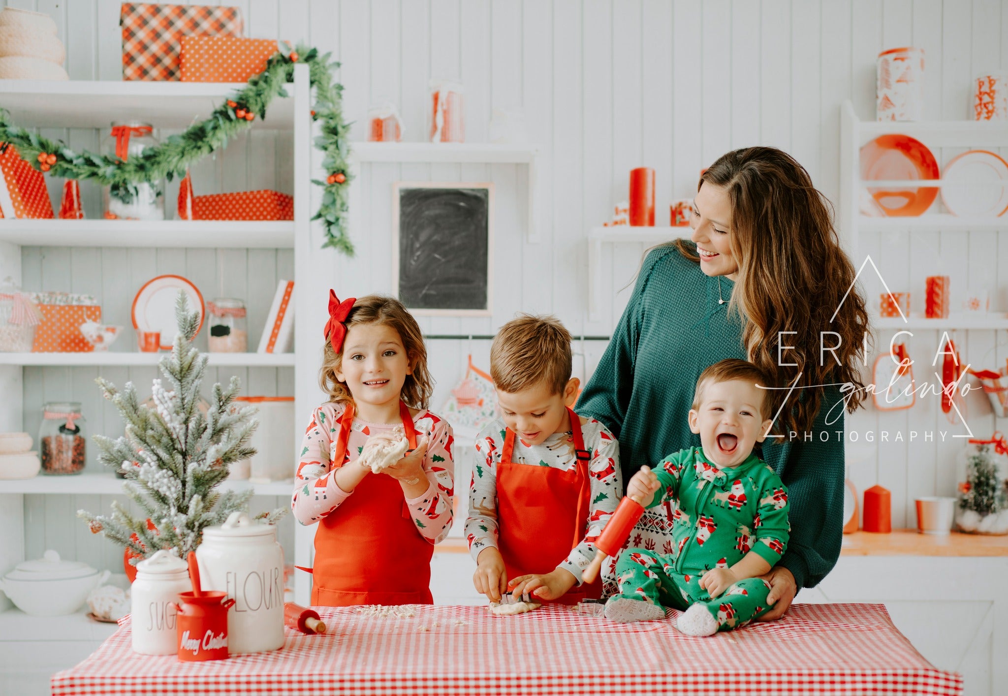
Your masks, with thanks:
M 205 590 L 235 600 L 228 611 L 228 650 L 261 653 L 283 647 L 283 549 L 276 529 L 232 512 L 221 527 L 203 531 L 196 551 Z

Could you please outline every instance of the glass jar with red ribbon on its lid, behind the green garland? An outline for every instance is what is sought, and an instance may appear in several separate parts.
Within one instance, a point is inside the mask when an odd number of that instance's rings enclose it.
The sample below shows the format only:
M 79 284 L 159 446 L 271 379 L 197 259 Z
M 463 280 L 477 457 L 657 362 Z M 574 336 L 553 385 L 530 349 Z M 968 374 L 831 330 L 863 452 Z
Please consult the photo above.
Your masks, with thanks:
M 127 161 L 160 142 L 153 126 L 142 121 L 114 121 L 102 141 L 102 153 Z M 110 220 L 163 220 L 164 181 L 134 182 L 104 187 L 105 217 Z

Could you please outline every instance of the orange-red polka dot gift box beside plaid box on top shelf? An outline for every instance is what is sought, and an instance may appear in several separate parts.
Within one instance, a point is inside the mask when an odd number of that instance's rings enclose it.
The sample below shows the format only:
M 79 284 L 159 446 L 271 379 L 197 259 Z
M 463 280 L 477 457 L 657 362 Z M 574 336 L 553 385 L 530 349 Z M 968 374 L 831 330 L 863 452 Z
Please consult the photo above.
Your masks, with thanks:
M 182 36 L 182 82 L 248 82 L 277 50 L 268 38 Z

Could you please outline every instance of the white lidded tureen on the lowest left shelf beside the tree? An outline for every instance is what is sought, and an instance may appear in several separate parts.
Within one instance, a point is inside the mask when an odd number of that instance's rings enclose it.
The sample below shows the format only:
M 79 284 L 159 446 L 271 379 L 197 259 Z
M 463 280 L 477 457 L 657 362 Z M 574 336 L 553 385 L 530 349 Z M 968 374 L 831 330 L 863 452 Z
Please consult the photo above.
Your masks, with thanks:
M 64 561 L 51 549 L 42 558 L 22 561 L 0 580 L 14 605 L 32 616 L 62 616 L 80 609 L 88 593 L 109 579 L 83 561 Z

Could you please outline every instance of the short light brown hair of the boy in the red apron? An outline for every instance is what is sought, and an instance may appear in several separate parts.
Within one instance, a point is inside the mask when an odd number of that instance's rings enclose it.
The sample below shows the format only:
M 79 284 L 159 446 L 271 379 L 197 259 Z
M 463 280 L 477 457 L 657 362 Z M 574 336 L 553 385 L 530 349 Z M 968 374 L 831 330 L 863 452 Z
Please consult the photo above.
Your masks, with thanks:
M 550 394 L 558 394 L 571 379 L 572 361 L 571 333 L 556 317 L 521 314 L 494 337 L 490 376 L 508 393 L 544 382 Z

